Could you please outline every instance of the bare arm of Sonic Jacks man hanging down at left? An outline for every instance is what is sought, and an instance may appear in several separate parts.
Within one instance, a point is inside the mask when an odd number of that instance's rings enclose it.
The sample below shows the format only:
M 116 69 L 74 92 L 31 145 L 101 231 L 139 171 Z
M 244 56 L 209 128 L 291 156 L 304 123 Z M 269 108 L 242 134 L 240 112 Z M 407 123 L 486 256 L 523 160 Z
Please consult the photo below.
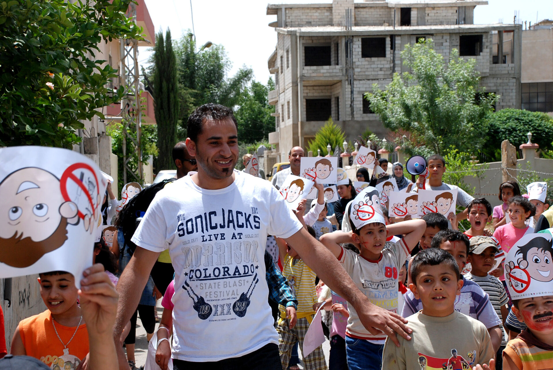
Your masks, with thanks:
M 129 368 L 127 358 L 123 352 L 121 333 L 127 322 L 131 320 L 134 310 L 138 307 L 140 296 L 148 282 L 152 267 L 155 261 L 158 260 L 158 256 L 159 252 L 137 247 L 117 283 L 119 304 L 117 305 L 117 317 L 113 328 L 113 340 L 117 348 L 119 370 L 128 370 Z

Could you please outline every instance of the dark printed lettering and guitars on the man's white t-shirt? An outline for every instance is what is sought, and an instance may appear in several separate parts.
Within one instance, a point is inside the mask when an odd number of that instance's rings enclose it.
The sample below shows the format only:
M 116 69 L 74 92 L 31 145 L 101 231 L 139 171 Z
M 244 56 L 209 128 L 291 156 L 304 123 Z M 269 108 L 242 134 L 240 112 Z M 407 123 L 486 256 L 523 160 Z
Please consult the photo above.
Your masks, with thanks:
M 177 217 L 186 277 L 182 289 L 192 299 L 198 317 L 209 321 L 244 317 L 259 282 L 257 208 Z

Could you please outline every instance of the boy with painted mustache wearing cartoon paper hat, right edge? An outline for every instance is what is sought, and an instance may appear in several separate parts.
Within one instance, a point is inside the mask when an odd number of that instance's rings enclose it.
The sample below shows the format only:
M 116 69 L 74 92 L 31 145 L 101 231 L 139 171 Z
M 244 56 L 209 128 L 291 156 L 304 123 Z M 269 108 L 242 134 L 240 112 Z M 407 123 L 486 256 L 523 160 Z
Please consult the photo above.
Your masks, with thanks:
M 504 370 L 553 369 L 553 284 L 541 274 L 533 274 L 529 263 L 521 259 L 522 254 L 531 251 L 533 263 L 550 265 L 552 239 L 550 232 L 525 235 L 505 258 L 512 311 L 527 327 L 507 343 Z

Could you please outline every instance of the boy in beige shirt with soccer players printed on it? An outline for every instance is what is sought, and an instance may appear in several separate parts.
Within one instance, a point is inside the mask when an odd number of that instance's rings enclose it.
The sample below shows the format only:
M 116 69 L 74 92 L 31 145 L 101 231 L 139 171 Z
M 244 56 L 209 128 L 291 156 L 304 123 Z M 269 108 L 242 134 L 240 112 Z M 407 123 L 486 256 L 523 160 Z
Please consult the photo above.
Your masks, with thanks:
M 383 370 L 444 368 L 461 370 L 491 363 L 494 351 L 486 327 L 455 310 L 463 280 L 455 258 L 443 249 L 425 249 L 413 258 L 409 285 L 422 310 L 409 317 L 410 341 L 386 341 Z M 452 333 L 455 333 L 453 335 Z

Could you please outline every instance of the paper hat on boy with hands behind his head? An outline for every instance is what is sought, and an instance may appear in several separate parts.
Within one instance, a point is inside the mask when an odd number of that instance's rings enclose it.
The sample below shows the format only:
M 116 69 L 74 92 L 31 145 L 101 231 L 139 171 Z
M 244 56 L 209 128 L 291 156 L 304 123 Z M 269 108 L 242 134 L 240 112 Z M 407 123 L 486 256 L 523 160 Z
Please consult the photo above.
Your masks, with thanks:
M 349 207 L 349 222 L 357 230 L 369 223 L 386 223 L 378 190 L 374 186 L 367 186 L 353 199 Z

